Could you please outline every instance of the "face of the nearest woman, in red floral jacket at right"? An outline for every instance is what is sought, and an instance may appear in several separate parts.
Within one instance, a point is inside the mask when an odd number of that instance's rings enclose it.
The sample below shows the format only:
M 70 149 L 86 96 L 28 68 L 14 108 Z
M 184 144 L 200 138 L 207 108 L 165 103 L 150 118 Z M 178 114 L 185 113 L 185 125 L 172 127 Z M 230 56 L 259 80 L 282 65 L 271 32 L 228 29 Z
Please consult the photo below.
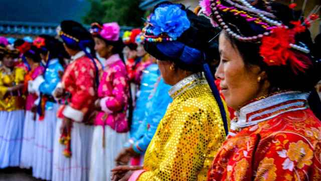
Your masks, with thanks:
M 246 66 L 237 48 L 224 32 L 219 38 L 220 64 L 215 77 L 221 80 L 221 93 L 229 107 L 237 110 L 249 101 L 268 93 L 266 74 L 257 65 Z M 261 78 L 259 78 L 261 77 Z

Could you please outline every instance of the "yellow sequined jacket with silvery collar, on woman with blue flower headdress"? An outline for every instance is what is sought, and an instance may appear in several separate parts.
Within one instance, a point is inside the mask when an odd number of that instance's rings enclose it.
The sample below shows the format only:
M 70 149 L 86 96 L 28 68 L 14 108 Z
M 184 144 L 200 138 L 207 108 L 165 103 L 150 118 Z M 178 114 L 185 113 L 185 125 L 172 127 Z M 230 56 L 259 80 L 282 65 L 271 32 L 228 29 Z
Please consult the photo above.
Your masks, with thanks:
M 174 85 L 170 96 L 173 103 L 146 150 L 138 180 L 207 180 L 226 137 L 219 107 L 201 73 Z

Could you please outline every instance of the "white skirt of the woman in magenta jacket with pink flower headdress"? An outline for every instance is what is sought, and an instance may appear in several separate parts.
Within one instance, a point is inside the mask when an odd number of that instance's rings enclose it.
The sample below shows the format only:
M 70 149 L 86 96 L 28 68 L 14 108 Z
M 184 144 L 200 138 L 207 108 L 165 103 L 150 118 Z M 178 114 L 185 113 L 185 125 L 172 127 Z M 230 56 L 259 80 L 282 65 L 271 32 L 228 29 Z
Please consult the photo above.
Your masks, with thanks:
M 110 170 L 116 166 L 115 158 L 127 139 L 127 133 L 117 133 L 109 126 L 105 126 L 105 148 L 103 148 L 103 127 L 95 126 L 91 147 L 90 181 L 110 180 Z

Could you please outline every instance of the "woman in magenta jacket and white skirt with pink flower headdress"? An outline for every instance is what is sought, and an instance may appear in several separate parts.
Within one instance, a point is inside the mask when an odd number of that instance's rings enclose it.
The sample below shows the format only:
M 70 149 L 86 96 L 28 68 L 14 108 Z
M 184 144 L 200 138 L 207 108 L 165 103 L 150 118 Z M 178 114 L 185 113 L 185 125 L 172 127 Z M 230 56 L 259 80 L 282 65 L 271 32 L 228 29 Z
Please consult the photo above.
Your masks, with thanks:
M 94 125 L 90 180 L 110 180 L 115 157 L 127 139 L 129 84 L 117 23 L 92 24 L 95 50 L 106 59 L 98 87 L 98 112 Z

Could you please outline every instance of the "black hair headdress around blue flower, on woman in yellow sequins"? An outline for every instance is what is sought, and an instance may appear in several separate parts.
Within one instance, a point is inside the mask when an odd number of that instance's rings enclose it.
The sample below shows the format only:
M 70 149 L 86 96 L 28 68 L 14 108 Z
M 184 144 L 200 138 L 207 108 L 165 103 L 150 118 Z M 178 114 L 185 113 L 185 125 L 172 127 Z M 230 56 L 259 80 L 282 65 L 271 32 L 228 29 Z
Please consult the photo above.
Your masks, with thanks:
M 167 5 L 167 4 L 172 5 L 173 3 L 171 2 L 159 3 L 154 7 L 153 11 L 155 11 L 155 9 L 158 8 L 159 6 Z M 209 46 L 210 46 L 209 41 L 217 34 L 217 30 L 212 26 L 212 24 L 207 18 L 197 16 L 191 10 L 186 9 L 184 5 L 180 5 L 180 6 L 182 10 L 186 11 L 187 17 L 191 23 L 191 26 L 189 29 L 184 31 L 184 33 L 177 39 L 177 41 L 182 42 L 189 47 L 196 48 L 206 53 L 209 50 Z M 163 43 L 163 42 L 160 42 L 160 43 Z M 167 42 L 164 42 L 164 43 L 167 43 Z M 150 55 L 152 55 L 156 59 L 172 61 L 175 63 L 175 66 L 180 69 L 192 71 L 194 73 L 197 73 L 203 70 L 202 63 L 200 63 L 199 65 L 191 66 L 178 60 L 179 57 L 177 59 L 174 59 L 166 56 L 164 53 L 158 50 L 158 48 L 156 47 L 157 44 L 159 44 L 159 42 L 154 43 L 154 42 L 145 41 L 144 48 L 146 52 L 148 52 Z M 206 59 L 208 61 L 211 61 L 210 56 L 209 58 L 206 58 Z

